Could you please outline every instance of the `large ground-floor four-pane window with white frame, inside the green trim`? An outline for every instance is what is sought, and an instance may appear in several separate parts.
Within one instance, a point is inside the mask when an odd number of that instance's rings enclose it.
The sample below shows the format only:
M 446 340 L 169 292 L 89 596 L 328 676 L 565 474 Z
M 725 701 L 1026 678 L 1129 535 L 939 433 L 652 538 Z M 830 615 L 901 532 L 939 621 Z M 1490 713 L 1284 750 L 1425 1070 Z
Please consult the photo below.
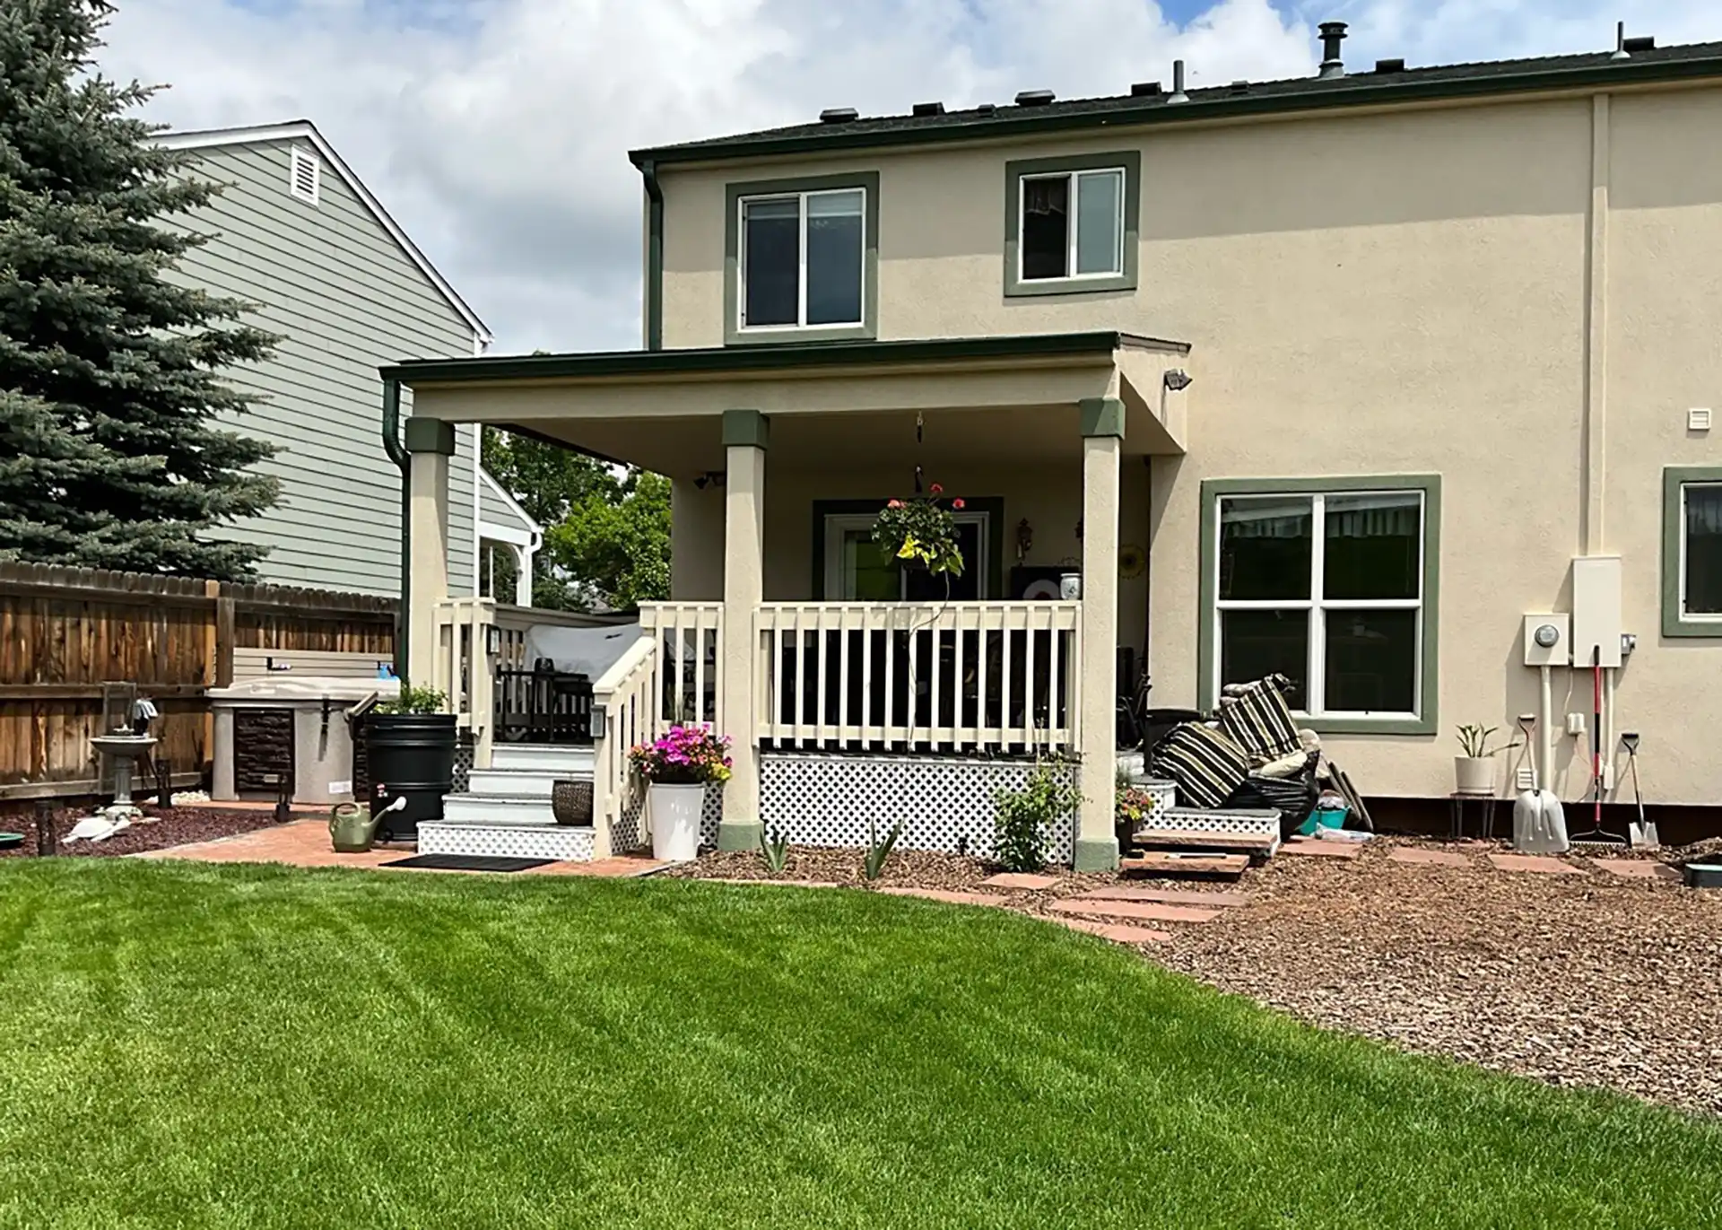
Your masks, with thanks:
M 1421 713 L 1426 491 L 1221 494 L 1214 517 L 1214 684 L 1283 674 L 1310 717 Z

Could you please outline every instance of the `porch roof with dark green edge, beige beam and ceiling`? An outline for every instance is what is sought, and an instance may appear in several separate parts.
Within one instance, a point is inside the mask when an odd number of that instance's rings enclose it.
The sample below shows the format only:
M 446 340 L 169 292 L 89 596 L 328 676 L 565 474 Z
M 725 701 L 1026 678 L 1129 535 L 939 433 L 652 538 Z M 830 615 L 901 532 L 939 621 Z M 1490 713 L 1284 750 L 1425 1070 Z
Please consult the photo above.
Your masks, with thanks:
M 723 465 L 725 410 L 773 417 L 773 462 L 864 460 L 892 420 L 938 415 L 971 458 L 1076 451 L 1076 403 L 1126 405 L 1126 451 L 1183 453 L 1164 376 L 1190 346 L 1119 331 L 413 360 L 381 369 L 413 413 L 489 422 L 613 462 L 697 477 Z M 985 422 L 976 417 L 985 412 Z M 957 419 L 964 415 L 966 419 Z

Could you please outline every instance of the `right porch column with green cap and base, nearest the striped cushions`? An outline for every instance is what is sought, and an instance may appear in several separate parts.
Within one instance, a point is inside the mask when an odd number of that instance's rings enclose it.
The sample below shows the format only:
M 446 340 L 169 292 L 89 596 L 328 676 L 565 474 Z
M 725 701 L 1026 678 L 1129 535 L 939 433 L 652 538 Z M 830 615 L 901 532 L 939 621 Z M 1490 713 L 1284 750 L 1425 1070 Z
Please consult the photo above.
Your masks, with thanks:
M 1118 777 L 1118 486 L 1124 403 L 1083 398 L 1081 408 L 1081 806 L 1076 811 L 1078 872 L 1118 868 L 1112 822 Z

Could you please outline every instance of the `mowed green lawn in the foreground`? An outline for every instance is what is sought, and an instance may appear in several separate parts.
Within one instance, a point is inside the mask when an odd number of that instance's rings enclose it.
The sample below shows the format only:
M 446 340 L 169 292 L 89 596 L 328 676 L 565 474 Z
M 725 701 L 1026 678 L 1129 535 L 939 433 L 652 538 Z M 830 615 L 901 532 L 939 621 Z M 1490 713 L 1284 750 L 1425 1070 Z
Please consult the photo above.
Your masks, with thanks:
M 3 1227 L 1700 1227 L 1722 1128 L 863 892 L 17 860 Z

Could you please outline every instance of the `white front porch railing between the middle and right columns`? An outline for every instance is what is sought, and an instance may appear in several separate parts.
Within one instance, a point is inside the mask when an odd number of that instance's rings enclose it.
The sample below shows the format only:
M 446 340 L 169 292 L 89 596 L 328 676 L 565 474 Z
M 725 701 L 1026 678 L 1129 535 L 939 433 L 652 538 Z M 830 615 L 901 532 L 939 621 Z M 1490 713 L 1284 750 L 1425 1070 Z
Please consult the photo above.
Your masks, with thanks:
M 765 603 L 754 734 L 775 748 L 1078 746 L 1081 603 Z

